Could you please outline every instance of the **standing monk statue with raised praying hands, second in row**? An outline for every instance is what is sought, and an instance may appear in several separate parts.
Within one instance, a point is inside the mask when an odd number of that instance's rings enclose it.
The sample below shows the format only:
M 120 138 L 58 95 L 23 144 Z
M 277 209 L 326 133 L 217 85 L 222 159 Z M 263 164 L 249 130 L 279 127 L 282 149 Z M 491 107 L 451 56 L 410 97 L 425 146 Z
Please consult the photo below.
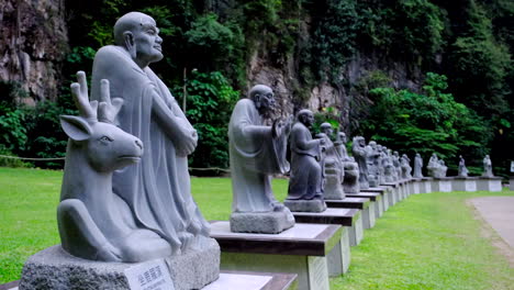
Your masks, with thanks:
M 234 193 L 231 228 L 280 233 L 294 225 L 294 217 L 275 199 L 271 175 L 289 171 L 286 154 L 290 124 L 278 120 L 272 126 L 264 124 L 264 118 L 275 105 L 269 87 L 257 85 L 248 97 L 236 103 L 228 124 Z

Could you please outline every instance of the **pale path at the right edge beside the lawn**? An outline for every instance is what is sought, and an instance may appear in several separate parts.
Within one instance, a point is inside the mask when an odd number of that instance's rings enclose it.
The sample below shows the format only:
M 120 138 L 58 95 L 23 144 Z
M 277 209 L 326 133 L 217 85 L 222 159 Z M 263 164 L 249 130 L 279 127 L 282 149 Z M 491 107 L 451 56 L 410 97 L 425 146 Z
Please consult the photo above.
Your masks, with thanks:
M 501 238 L 488 233 L 490 231 L 484 231 L 484 235 L 491 238 L 514 267 L 514 197 L 476 198 L 469 202 Z

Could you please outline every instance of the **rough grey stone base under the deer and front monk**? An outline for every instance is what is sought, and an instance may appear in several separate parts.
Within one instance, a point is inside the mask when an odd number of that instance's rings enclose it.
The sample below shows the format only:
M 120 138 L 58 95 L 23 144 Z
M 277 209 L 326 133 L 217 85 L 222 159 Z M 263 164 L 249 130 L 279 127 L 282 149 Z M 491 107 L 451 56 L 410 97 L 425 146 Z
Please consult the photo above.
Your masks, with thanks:
M 215 239 L 206 238 L 201 250 L 189 250 L 165 261 L 176 290 L 201 289 L 220 276 L 220 246 Z M 29 258 L 20 290 L 130 290 L 124 270 L 134 265 L 77 258 L 57 245 Z

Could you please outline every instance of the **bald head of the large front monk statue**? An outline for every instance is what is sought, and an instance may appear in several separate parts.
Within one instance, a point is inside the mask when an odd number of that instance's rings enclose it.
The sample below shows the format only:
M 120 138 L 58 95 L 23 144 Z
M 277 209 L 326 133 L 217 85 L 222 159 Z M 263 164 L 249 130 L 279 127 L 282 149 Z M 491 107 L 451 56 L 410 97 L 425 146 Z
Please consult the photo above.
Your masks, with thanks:
M 124 47 L 132 59 L 144 68 L 163 59 L 163 38 L 155 20 L 141 12 L 130 12 L 114 24 L 114 42 Z

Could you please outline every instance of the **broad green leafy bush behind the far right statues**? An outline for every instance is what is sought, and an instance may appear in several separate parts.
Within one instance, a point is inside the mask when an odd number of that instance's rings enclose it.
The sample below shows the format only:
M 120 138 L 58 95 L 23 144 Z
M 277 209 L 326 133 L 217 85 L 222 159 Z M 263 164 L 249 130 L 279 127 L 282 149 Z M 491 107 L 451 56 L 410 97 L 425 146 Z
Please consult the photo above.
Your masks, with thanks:
M 488 127 L 472 110 L 444 93 L 445 76 L 428 72 L 424 93 L 392 88 L 372 89 L 377 103 L 361 131 L 388 147 L 411 155 L 428 156 L 433 152 L 443 158 L 459 154 L 481 159 L 491 140 Z

